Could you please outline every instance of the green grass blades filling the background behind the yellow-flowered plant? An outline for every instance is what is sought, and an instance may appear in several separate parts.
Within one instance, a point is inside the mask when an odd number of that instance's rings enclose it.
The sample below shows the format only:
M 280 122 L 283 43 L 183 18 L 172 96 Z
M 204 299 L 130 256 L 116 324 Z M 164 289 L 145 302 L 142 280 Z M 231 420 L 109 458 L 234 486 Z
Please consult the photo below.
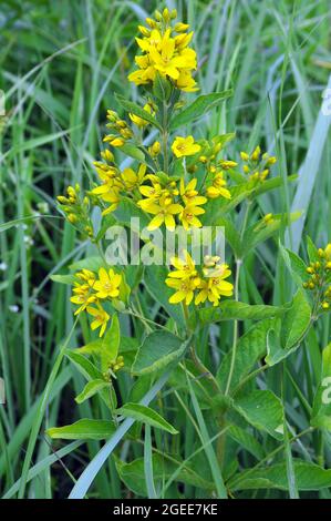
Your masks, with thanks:
M 258 212 L 303 210 L 303 227 L 299 224 L 281 239 L 303 255 L 306 234 L 324 245 L 331 238 L 331 149 L 330 119 L 320 109 L 331 71 L 329 1 L 190 0 L 167 6 L 177 8 L 178 17 L 195 30 L 201 93 L 234 89 L 234 96 L 195 129 L 196 137 L 236 131 L 230 146 L 234 157 L 257 143 L 275 152 L 276 171 L 285 183 L 277 193 L 261 197 Z M 112 0 L 0 6 L 0 89 L 6 94 L 0 133 L 0 375 L 7 394 L 6 406 L 0 406 L 2 494 L 22 474 L 39 397 L 73 326 L 69 289 L 52 283 L 50 275 L 64 273 L 68 264 L 91 253 L 91 246 L 82 244 L 56 212 L 54 197 L 69 184 L 87 186 L 89 178 L 95 178 L 91 163 L 102 147 L 105 111 L 116 109 L 114 93 L 139 100 L 126 80 L 134 35 L 136 25 L 158 7 L 164 6 Z M 299 181 L 289 185 L 287 176 L 299 171 Z M 4 224 L 14 219 L 19 219 L 15 226 Z M 270 241 L 249 256 L 241 279 L 242 300 L 283 303 L 292 289 L 277 243 Z M 72 347 L 80 345 L 77 331 L 71 337 Z M 329 338 L 325 317 L 291 362 L 288 415 L 298 430 L 308 420 L 298 410 L 296 386 L 311 402 L 320 350 Z M 278 374 L 269 374 L 269 385 L 277 389 Z M 124 377 L 121 385 L 125 396 L 130 378 Z M 100 412 L 93 401 L 73 406 L 81 387 L 81 377 L 64 361 L 35 445 L 29 449 L 31 463 L 41 462 L 41 470 L 29 481 L 29 497 L 65 498 L 73 474 L 77 477 L 100 448 L 91 442 L 73 450 L 74 443 L 66 449 L 70 456 L 60 461 L 43 435 L 48 426 Z M 175 399 L 173 409 L 169 415 L 183 413 Z M 188 430 L 186 456 L 193 451 L 193 436 Z M 306 457 L 313 449 L 320 453 L 320 443 L 318 436 L 310 436 L 298 443 L 297 451 Z M 135 456 L 142 450 L 135 448 Z M 189 488 L 185 491 L 186 497 L 193 493 Z M 126 494 L 110 460 L 90 497 Z

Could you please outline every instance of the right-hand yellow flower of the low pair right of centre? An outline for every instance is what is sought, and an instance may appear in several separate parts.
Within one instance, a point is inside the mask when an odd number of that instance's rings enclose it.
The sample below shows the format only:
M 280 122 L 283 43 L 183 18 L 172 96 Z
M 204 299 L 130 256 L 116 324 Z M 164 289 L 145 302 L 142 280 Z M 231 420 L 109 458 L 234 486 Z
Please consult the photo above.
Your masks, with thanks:
M 198 286 L 200 290 L 195 298 L 196 305 L 208 299 L 214 306 L 217 306 L 221 296 L 230 297 L 234 293 L 234 285 L 225 280 L 231 275 L 227 264 L 216 265 L 210 273 L 213 276 L 203 279 Z

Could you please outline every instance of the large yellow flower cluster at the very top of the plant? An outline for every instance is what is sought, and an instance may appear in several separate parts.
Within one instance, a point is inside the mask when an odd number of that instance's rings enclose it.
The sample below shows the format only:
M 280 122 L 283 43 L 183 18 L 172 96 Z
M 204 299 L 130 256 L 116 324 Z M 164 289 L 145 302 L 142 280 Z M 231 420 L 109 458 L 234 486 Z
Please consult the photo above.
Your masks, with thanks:
M 163 13 L 156 11 L 155 19 L 146 19 L 148 27 L 139 25 L 142 38 L 136 38 L 136 42 L 142 54 L 135 57 L 138 69 L 128 75 L 136 85 L 154 82 L 159 74 L 182 91 L 197 90 L 192 76 L 192 71 L 197 68 L 197 57 L 188 47 L 193 32 L 187 32 L 189 25 L 185 23 L 173 24 L 176 17 L 176 10 L 165 9 Z

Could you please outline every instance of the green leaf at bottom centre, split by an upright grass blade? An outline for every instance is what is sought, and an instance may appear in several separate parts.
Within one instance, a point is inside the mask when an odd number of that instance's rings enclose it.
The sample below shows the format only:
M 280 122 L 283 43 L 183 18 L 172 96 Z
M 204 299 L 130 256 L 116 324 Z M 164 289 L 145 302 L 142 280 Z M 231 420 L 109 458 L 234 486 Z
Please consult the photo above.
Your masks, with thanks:
M 116 469 L 127 489 L 137 496 L 147 497 L 144 458 L 138 458 L 131 463 L 116 461 Z M 156 489 L 164 483 L 165 479 L 173 476 L 175 476 L 175 481 L 198 487 L 203 490 L 211 491 L 215 488 L 213 481 L 203 479 L 190 464 L 183 463 L 183 461 L 173 457 L 168 459 L 166 456 L 153 454 L 153 478 Z

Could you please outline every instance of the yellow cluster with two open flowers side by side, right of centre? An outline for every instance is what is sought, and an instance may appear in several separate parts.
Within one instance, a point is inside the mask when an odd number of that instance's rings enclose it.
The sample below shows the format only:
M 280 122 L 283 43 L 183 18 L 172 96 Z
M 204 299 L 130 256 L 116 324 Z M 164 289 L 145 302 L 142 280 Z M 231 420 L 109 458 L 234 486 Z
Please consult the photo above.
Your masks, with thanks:
M 227 264 L 221 264 L 217 256 L 205 256 L 204 266 L 198 272 L 195 262 L 184 252 L 184 257 L 172 258 L 175 270 L 168 273 L 166 284 L 175 289 L 170 296 L 170 304 L 184 303 L 188 306 L 193 300 L 195 305 L 209 300 L 217 306 L 221 296 L 230 297 L 234 285 L 227 280 L 231 275 Z

